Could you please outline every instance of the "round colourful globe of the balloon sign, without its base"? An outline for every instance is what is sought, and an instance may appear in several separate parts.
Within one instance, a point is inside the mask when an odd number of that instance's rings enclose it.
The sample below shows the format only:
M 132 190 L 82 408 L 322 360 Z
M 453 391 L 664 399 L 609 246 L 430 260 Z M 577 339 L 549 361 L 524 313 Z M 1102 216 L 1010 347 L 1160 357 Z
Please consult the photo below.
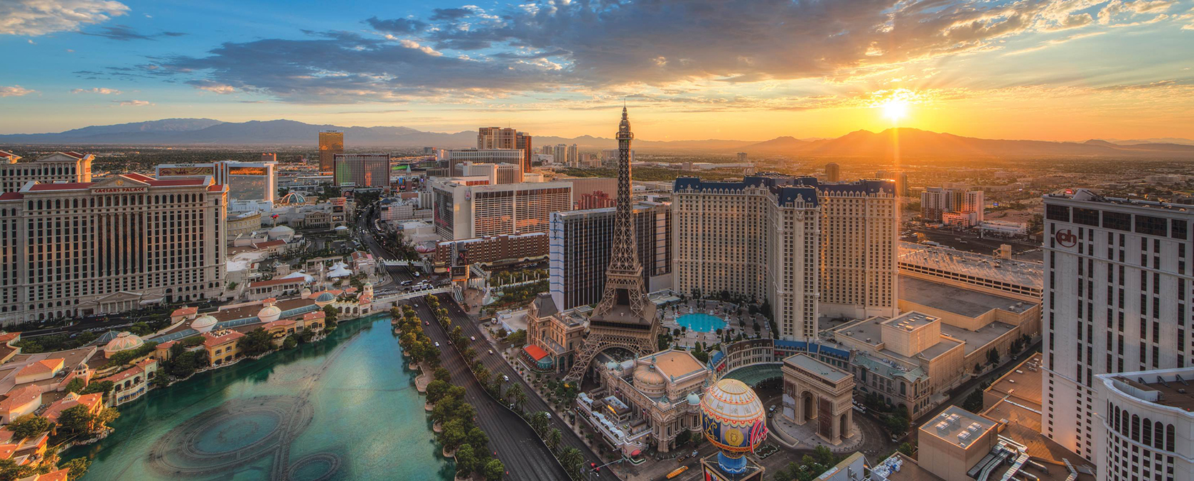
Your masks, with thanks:
M 701 425 L 713 445 L 740 456 L 767 438 L 767 411 L 749 386 L 722 379 L 701 398 Z

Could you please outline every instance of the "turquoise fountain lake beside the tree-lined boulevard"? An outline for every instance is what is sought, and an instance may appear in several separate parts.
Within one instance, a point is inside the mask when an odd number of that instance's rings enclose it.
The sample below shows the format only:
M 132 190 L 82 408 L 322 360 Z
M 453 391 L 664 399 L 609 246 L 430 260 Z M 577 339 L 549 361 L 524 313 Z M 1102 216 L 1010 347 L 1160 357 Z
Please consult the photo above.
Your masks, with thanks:
M 450 480 L 389 317 L 197 374 L 122 406 L 116 431 L 70 449 L 99 480 Z

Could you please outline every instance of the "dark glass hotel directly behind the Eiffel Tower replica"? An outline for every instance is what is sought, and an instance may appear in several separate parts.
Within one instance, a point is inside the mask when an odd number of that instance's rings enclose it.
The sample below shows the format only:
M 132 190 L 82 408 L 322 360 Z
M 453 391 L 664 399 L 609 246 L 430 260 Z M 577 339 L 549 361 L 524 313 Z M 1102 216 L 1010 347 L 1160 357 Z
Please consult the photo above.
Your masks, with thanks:
M 560 310 L 601 300 L 614 238 L 614 207 L 553 212 L 550 215 L 548 285 Z M 670 287 L 672 211 L 658 202 L 634 206 L 635 248 L 648 292 Z

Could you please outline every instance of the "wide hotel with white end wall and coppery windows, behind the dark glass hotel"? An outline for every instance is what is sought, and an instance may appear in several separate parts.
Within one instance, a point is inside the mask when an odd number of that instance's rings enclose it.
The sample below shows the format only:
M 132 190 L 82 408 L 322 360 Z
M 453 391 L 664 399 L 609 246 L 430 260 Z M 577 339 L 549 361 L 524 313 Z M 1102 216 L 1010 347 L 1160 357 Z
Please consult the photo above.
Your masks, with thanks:
M 546 232 L 552 212 L 572 208 L 568 182 L 469 186 L 456 179 L 431 182 L 432 220 L 443 240 Z

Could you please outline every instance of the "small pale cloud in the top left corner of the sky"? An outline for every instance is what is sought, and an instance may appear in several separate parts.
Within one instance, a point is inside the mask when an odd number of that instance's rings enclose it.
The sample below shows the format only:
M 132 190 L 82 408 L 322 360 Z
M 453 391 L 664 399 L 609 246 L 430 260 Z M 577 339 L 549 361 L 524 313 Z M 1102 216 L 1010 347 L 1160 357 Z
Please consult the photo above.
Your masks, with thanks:
M 128 11 L 124 4 L 110 0 L 5 0 L 0 1 L 0 35 L 37 37 L 76 31 Z

